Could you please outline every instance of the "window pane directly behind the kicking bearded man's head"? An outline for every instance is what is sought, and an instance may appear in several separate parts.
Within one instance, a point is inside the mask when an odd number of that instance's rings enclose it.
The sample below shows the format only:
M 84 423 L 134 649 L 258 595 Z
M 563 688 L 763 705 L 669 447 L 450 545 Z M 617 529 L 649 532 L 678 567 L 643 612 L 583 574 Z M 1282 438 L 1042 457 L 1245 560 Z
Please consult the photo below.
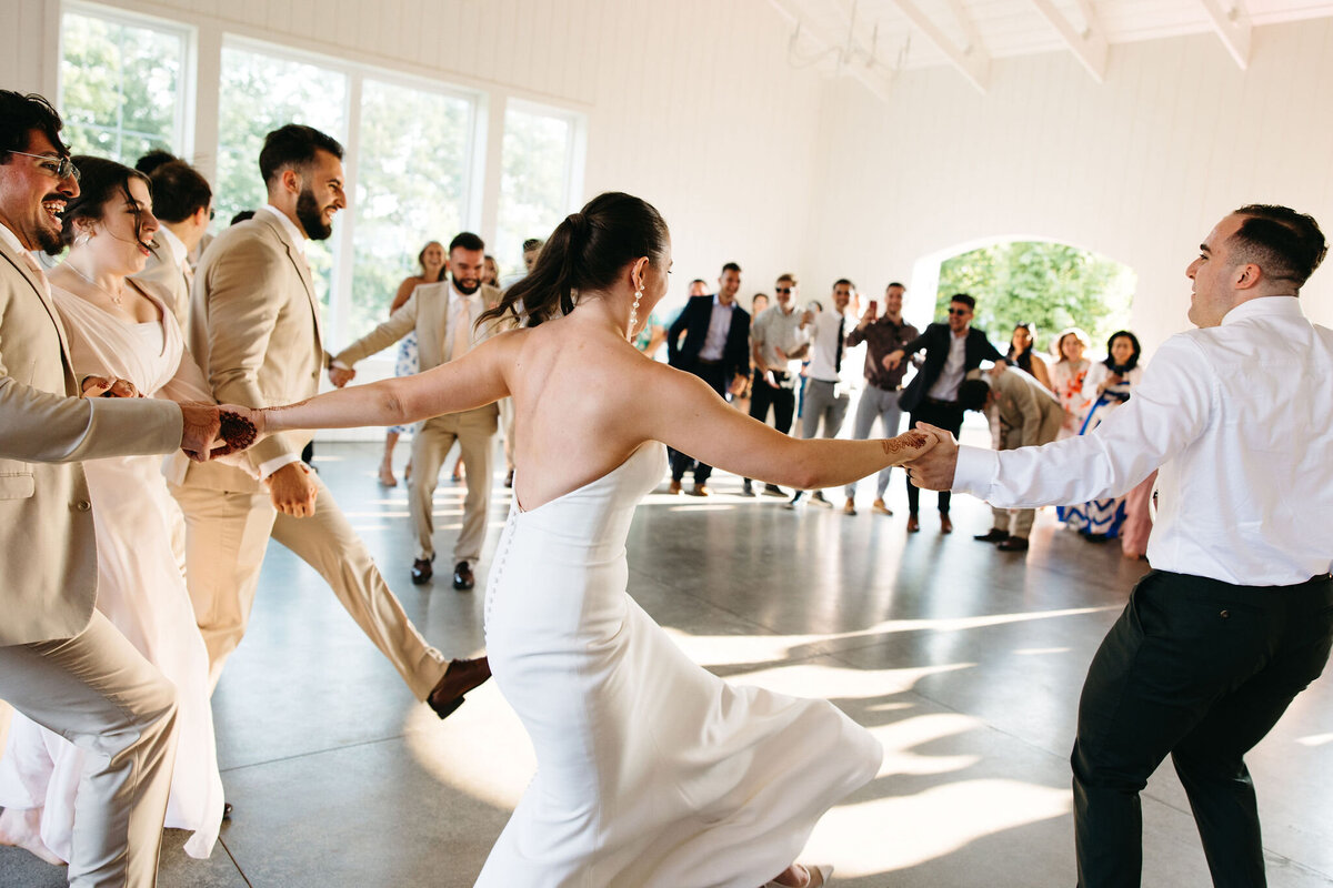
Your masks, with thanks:
M 259 174 L 264 136 L 284 124 L 305 124 L 347 140 L 347 75 L 251 47 L 223 47 L 217 103 L 217 182 L 213 205 L 225 226 L 240 210 L 268 202 Z M 345 224 L 340 220 L 335 222 Z M 335 230 L 335 238 L 337 233 Z M 333 238 L 311 241 L 305 258 L 316 296 L 328 305 L 335 269 Z

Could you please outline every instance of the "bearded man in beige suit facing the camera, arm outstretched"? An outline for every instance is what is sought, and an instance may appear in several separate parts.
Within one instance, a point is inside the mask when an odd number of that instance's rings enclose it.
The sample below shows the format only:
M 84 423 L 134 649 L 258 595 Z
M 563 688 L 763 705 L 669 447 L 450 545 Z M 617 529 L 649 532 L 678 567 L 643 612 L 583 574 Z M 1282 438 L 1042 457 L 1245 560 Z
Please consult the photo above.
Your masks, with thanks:
M 333 358 L 329 378 L 341 387 L 352 378 L 351 369 L 361 358 L 387 349 L 412 330 L 417 334 L 417 354 L 425 373 L 448 361 L 461 358 L 496 332 L 496 325 L 476 329 L 481 313 L 500 300 L 500 290 L 481 282 L 487 245 L 480 237 L 464 232 L 449 242 L 449 280 L 423 284 L 388 321 L 361 337 Z M 487 539 L 487 514 L 491 510 L 491 455 L 497 405 L 451 413 L 427 419 L 412 438 L 412 478 L 409 499 L 417 531 L 416 560 L 412 582 L 429 582 L 435 570 L 435 519 L 432 501 L 440 466 L 453 442 L 459 442 L 468 467 L 468 497 L 463 502 L 463 530 L 453 545 L 453 587 L 467 591 L 476 583 L 473 570 Z

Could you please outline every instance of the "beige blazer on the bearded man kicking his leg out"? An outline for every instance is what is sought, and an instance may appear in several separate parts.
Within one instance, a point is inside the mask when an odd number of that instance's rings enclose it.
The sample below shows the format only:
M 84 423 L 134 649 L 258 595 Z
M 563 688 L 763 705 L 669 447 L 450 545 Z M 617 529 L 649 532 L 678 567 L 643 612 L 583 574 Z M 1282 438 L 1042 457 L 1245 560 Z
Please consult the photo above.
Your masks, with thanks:
M 305 257 L 277 220 L 260 213 L 213 240 L 195 272 L 189 350 L 219 403 L 273 407 L 319 393 L 327 355 Z M 281 433 L 247 450 L 255 474 L 181 454 L 167 478 L 187 487 L 263 493 L 259 467 L 300 457 L 309 431 Z

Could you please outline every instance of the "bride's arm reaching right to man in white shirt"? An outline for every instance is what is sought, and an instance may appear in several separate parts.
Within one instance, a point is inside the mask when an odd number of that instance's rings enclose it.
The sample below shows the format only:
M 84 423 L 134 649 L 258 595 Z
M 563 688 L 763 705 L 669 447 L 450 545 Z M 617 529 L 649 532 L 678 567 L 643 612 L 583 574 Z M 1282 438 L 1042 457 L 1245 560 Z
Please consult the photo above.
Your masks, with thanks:
M 936 443 L 921 431 L 870 441 L 790 438 L 729 406 L 697 377 L 663 365 L 652 373 L 647 390 L 655 397 L 640 409 L 647 437 L 745 478 L 806 490 L 836 487 L 901 466 Z

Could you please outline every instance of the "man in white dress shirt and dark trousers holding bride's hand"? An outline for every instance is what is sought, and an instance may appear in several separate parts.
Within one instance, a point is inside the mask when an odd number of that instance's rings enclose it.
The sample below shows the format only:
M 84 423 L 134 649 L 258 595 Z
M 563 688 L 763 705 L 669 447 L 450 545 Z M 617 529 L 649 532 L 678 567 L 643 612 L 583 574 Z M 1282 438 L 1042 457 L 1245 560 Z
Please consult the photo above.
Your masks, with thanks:
M 1325 254 L 1309 216 L 1242 206 L 1186 274 L 1189 320 L 1089 435 L 994 453 L 940 445 L 913 483 L 993 506 L 1120 495 L 1161 466 L 1154 570 L 1093 658 L 1072 756 L 1078 884 L 1138 885 L 1138 792 L 1170 754 L 1214 885 L 1264 885 L 1245 754 L 1333 639 L 1333 330 L 1301 313 Z

